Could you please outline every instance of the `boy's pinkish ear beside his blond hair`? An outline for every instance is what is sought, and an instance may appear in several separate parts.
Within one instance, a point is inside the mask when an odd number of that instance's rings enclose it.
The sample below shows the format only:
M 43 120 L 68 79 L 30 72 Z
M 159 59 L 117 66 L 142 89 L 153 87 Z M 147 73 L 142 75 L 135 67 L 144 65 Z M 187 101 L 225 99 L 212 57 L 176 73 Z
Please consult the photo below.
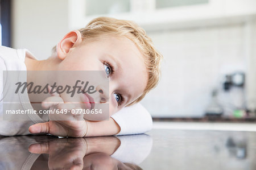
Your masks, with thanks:
M 81 32 L 78 30 L 68 32 L 64 38 L 57 44 L 57 56 L 64 60 L 69 50 L 82 42 Z

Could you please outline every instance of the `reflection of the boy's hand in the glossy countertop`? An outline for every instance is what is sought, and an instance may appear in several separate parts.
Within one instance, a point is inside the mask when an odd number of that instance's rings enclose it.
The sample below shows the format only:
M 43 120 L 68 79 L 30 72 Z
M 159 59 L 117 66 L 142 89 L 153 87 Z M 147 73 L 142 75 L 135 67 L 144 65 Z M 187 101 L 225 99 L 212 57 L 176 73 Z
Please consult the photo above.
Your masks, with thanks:
M 84 138 L 62 138 L 31 144 L 33 154 L 49 154 L 49 169 L 82 169 L 87 144 Z

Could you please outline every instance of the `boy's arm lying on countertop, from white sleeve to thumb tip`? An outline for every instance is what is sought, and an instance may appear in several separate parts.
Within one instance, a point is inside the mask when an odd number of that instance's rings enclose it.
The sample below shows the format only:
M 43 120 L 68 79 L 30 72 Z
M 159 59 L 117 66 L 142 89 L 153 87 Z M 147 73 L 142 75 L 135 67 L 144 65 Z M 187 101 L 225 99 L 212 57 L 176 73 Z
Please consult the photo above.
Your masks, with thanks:
M 68 125 L 68 131 L 72 134 L 62 134 L 60 132 L 60 125 L 52 124 L 54 121 L 49 121 L 45 123 L 37 123 L 30 127 L 30 132 L 33 134 L 37 133 L 50 133 L 57 136 L 73 136 L 73 137 L 82 137 L 82 136 L 110 136 L 110 135 L 130 135 L 130 134 L 142 134 L 151 130 L 152 128 L 152 118 L 148 111 L 144 109 L 141 104 L 135 104 L 130 107 L 125 107 L 122 110 L 118 111 L 112 115 L 112 118 L 109 121 L 79 121 L 80 130 L 84 132 L 71 132 L 72 128 Z M 57 123 L 57 122 L 56 122 Z M 69 122 L 72 123 L 72 122 Z M 78 126 L 77 121 L 73 122 L 72 126 Z M 60 124 L 63 124 L 60 122 Z M 84 125 L 83 125 L 84 124 Z M 83 126 L 82 126 L 83 125 Z M 63 126 L 63 125 L 62 125 Z M 67 126 L 67 125 L 65 125 Z M 60 128 L 59 130 L 56 129 Z M 74 131 L 79 129 L 74 127 Z M 65 132 L 65 131 L 64 131 Z M 76 135 L 76 134 L 85 134 L 85 135 Z

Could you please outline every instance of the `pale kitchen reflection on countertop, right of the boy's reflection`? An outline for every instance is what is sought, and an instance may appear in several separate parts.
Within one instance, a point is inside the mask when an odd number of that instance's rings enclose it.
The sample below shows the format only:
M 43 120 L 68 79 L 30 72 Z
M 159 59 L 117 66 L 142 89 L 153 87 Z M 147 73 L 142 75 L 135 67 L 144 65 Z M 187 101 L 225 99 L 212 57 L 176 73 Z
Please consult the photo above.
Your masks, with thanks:
M 255 131 L 158 128 L 148 134 L 153 146 L 143 169 L 256 169 Z

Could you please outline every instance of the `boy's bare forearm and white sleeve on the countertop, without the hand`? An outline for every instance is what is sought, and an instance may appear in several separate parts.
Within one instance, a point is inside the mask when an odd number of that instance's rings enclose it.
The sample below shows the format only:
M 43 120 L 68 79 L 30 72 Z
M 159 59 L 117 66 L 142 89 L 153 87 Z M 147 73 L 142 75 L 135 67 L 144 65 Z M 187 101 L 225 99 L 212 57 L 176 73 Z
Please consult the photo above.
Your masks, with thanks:
M 124 107 L 112 115 L 109 121 L 86 122 L 86 136 L 143 134 L 152 128 L 151 115 L 140 103 Z

